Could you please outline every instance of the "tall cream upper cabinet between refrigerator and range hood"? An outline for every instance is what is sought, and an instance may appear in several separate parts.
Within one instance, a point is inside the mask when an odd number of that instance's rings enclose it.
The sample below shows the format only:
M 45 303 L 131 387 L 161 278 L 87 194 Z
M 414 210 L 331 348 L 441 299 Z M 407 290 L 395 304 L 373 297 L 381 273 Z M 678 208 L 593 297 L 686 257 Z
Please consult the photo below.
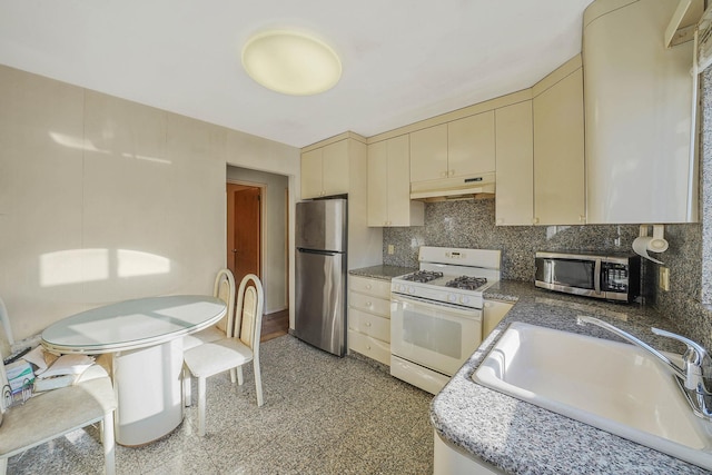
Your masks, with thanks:
M 408 136 L 368 146 L 368 226 L 423 226 L 424 205 L 411 200 Z

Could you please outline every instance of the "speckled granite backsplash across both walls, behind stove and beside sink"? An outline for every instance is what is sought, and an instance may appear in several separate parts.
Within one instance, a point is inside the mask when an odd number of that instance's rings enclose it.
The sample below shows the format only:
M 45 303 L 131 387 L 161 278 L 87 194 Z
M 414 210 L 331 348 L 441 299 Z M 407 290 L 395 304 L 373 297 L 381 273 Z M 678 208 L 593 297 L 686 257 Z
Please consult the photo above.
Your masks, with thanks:
M 637 225 L 495 226 L 494 199 L 425 205 L 425 226 L 384 228 L 383 261 L 417 267 L 419 246 L 502 250 L 502 278 L 534 281 L 537 250 L 591 250 L 633 254 Z M 659 265 L 643 259 L 645 304 L 679 326 L 679 331 L 712 349 L 712 311 L 700 304 L 702 225 L 668 225 L 670 248 L 657 257 L 670 268 L 671 289 L 656 289 Z M 388 245 L 394 254 L 388 254 Z

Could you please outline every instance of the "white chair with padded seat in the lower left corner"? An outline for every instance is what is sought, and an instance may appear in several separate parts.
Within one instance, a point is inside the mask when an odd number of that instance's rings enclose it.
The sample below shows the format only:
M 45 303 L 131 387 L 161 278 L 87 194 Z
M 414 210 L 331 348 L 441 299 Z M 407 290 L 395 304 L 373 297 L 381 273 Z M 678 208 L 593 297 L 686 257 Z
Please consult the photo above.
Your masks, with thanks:
M 2 300 L 0 320 L 6 330 L 6 338 L 12 345 L 10 321 Z M 81 382 L 73 386 L 49 390 L 31 397 L 20 406 L 3 409 L 0 427 L 0 475 L 7 473 L 9 457 L 96 423 L 101 425 L 105 473 L 116 473 L 113 412 L 117 404 L 113 386 L 103 368 L 92 366 L 90 369 L 92 370 L 87 370 Z M 4 384 L 7 375 L 0 360 L 0 385 Z

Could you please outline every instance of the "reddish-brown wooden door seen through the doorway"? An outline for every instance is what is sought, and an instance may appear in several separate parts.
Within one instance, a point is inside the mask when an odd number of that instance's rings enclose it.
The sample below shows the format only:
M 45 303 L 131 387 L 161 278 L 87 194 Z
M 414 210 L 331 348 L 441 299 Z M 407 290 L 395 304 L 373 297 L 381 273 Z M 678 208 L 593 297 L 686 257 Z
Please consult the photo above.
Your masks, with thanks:
M 261 188 L 227 185 L 227 267 L 239 286 L 247 274 L 261 278 Z

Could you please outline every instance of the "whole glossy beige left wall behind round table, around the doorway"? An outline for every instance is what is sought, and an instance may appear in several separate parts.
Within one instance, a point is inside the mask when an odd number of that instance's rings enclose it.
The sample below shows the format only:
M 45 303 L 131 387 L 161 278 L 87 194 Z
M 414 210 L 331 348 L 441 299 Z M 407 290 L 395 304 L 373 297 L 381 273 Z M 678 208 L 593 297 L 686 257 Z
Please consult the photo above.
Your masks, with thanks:
M 4 66 L 0 144 L 0 296 L 16 339 L 111 301 L 211 293 L 226 164 L 287 175 L 299 192 L 296 148 Z

